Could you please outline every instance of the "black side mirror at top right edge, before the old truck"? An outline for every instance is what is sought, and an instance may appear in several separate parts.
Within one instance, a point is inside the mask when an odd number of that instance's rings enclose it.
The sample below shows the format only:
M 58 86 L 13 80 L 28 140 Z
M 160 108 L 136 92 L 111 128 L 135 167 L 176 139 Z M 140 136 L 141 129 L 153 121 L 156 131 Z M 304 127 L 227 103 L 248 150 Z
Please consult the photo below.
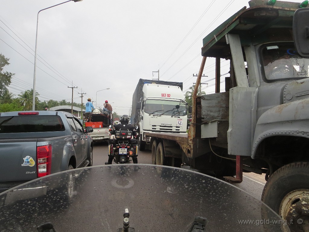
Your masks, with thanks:
M 309 9 L 299 8 L 294 13 L 293 37 L 300 56 L 309 57 Z

